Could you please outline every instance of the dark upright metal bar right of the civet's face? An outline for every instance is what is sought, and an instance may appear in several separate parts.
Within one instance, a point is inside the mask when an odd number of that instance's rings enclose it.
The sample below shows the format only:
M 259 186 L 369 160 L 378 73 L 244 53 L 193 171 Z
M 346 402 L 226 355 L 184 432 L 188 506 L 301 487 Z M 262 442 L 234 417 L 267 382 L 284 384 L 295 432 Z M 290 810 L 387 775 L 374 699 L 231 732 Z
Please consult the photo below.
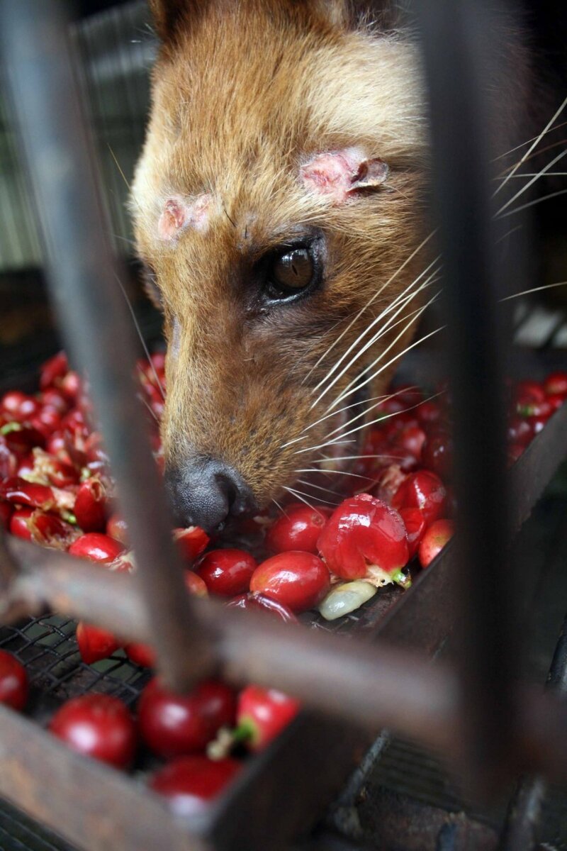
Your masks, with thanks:
M 468 780 L 493 789 L 513 765 L 511 583 L 507 568 L 502 328 L 490 203 L 486 106 L 491 9 L 416 3 L 433 141 L 432 195 L 444 265 L 455 435 L 455 601 Z

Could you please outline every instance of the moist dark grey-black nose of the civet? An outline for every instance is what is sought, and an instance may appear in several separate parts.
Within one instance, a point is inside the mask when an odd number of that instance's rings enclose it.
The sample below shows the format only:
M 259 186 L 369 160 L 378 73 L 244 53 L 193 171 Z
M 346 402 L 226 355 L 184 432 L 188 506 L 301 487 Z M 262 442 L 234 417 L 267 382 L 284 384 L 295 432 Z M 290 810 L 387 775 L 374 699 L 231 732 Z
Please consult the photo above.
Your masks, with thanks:
M 216 458 L 196 456 L 166 469 L 166 488 L 176 523 L 207 532 L 232 517 L 258 512 L 252 490 L 234 467 Z

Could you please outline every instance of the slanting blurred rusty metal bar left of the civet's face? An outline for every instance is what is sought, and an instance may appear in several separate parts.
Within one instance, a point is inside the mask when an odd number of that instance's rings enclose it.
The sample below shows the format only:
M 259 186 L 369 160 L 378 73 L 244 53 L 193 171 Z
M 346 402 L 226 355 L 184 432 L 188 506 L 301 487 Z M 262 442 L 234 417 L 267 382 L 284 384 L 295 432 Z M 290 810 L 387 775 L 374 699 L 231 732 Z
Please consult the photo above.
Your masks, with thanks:
M 184 593 L 136 399 L 133 326 L 116 284 L 62 9 L 57 0 L 2 0 L 3 58 L 48 249 L 49 287 L 71 355 L 88 373 L 159 667 L 171 686 L 187 688 L 213 660 Z

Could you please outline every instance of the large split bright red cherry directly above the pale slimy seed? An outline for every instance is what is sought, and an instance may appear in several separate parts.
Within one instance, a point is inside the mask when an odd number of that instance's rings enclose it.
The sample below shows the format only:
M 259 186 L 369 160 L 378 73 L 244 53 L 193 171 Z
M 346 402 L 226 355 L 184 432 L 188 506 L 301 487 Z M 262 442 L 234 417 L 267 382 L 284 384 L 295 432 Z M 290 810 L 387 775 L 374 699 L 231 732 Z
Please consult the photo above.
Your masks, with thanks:
M 409 557 L 400 515 L 370 494 L 344 500 L 320 534 L 318 546 L 327 567 L 345 580 L 363 579 L 369 563 L 397 574 Z

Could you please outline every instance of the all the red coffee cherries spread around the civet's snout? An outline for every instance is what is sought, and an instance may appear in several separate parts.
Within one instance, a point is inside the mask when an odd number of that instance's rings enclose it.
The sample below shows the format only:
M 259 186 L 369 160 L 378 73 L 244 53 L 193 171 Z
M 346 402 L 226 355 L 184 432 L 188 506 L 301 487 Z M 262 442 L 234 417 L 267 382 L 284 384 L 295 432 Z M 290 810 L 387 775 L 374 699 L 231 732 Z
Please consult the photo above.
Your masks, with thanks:
M 162 467 L 164 356 L 139 361 L 136 375 Z M 508 390 L 512 463 L 564 403 L 567 373 Z M 295 502 L 284 505 L 279 517 L 264 513 L 242 523 L 238 540 L 247 545 L 238 547 L 215 545 L 197 527 L 174 529 L 190 593 L 224 597 L 230 607 L 294 623 L 309 611 L 325 620 L 343 617 L 385 585 L 408 588 L 412 574 L 427 568 L 453 533 L 451 413 L 445 400 L 443 392 L 425 398 L 416 387 L 392 388 L 343 477 L 349 490 L 337 491 L 336 506 Z M 37 393 L 9 391 L 0 399 L 0 522 L 11 534 L 105 569 L 135 570 L 88 387 L 63 352 L 43 364 Z M 155 663 L 149 646 L 126 643 L 94 624 L 77 624 L 77 645 L 88 665 L 122 651 L 136 665 Z M 22 709 L 26 690 L 26 671 L 0 651 L 0 701 Z M 141 740 L 167 760 L 150 778 L 151 787 L 189 814 L 239 770 L 241 762 L 229 756 L 232 748 L 264 747 L 297 711 L 296 700 L 272 689 L 249 686 L 236 695 L 224 683 L 207 681 L 189 695 L 176 695 L 155 678 L 140 697 L 137 723 L 120 700 L 85 694 L 61 706 L 49 729 L 77 751 L 118 768 L 133 762 Z

